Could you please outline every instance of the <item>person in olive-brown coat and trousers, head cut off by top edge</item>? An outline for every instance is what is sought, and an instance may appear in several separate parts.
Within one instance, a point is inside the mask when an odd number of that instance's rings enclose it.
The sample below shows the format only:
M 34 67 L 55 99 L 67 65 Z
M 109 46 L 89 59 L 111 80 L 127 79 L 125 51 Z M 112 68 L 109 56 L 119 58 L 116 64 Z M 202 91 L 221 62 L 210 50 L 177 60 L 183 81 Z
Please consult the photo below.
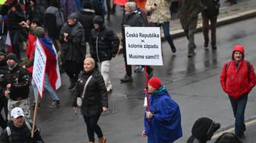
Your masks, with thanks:
M 180 23 L 187 36 L 187 57 L 194 56 L 196 44 L 194 44 L 194 33 L 197 28 L 198 14 L 201 12 L 201 0 L 180 0 Z

